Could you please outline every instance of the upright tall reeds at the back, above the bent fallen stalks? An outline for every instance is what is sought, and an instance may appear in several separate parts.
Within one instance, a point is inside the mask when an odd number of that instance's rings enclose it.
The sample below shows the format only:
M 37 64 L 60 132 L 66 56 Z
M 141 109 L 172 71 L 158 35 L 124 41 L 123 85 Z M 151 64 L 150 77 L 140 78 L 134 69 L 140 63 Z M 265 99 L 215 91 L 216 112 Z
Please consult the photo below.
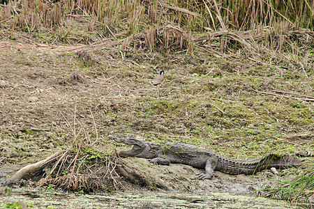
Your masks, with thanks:
M 232 29 L 255 30 L 264 26 L 313 29 L 314 2 L 308 0 L 14 0 L 3 1 L 0 21 L 9 20 L 13 28 L 55 26 L 64 24 L 70 15 L 93 17 L 108 26 L 130 24 L 130 31 L 139 22 L 176 25 L 183 29 L 214 31 Z M 144 18 L 144 16 L 146 16 Z M 285 28 L 283 28 L 285 29 Z

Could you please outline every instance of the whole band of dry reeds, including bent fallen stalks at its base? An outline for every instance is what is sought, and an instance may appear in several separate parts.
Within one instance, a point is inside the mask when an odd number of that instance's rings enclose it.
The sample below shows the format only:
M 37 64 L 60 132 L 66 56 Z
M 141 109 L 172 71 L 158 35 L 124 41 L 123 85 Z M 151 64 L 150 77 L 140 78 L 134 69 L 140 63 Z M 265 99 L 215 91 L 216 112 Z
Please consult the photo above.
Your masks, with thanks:
M 313 8 L 308 1 L 27 1 L 6 2 L 0 8 L 2 28 L 25 31 L 31 38 L 43 28 L 62 41 L 80 40 L 70 19 L 83 31 L 126 38 L 130 49 L 193 54 L 197 49 L 222 54 L 260 56 L 289 51 L 309 54 L 313 45 Z M 76 29 L 76 30 L 75 30 Z M 57 31 L 57 33 L 55 33 Z M 81 35 L 82 36 L 82 35 Z M 91 41 L 91 42 L 90 42 Z M 54 41 L 50 42 L 54 43 Z M 298 57 L 294 62 L 299 63 Z

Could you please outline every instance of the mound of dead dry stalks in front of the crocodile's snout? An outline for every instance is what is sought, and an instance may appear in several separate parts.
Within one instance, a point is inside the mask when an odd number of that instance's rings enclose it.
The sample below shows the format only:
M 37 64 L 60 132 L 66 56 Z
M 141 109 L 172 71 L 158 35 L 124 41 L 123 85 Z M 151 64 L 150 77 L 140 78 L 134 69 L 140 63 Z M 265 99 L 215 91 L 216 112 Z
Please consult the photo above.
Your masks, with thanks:
M 119 164 L 117 153 L 108 157 L 105 153 L 94 150 L 98 136 L 96 134 L 95 141 L 91 141 L 82 123 L 77 120 L 76 114 L 75 106 L 73 125 L 70 125 L 61 113 L 73 132 L 73 142 L 62 155 L 59 155 L 52 167 L 45 168 L 45 178 L 41 178 L 37 185 L 40 187 L 53 185 L 54 189 L 85 193 L 124 188 L 116 169 Z M 94 127 L 97 133 L 95 121 Z

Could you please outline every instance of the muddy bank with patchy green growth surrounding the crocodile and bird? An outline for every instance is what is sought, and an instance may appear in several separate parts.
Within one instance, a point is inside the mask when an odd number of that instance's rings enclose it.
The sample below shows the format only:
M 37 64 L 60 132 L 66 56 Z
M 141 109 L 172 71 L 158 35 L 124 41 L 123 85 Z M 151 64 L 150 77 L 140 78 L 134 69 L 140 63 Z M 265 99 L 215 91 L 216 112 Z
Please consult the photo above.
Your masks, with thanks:
M 216 172 L 213 180 L 198 181 L 192 167 L 124 160 L 170 190 L 246 194 L 270 180 L 292 178 L 314 165 L 313 60 L 307 76 L 301 68 L 290 69 L 289 62 L 282 65 L 278 70 L 202 52 L 95 51 L 86 45 L 1 40 L 2 179 L 66 150 L 77 132 L 89 150 L 107 156 L 115 148 L 126 149 L 107 137 L 114 134 L 193 144 L 241 160 L 285 153 L 304 161 L 279 176 L 270 171 L 256 176 Z M 158 93 L 151 81 L 159 70 L 165 70 L 165 82 Z

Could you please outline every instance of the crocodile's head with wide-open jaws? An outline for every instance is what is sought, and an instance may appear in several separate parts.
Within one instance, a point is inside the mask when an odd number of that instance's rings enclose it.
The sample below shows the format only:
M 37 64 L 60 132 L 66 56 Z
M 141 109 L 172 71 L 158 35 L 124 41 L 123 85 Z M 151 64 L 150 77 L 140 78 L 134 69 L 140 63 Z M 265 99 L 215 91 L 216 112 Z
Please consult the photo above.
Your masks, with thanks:
M 131 150 L 121 150 L 119 155 L 121 157 L 143 157 L 143 158 L 153 158 L 156 156 L 156 150 L 158 144 L 146 143 L 137 139 L 120 139 L 112 135 L 109 136 L 110 139 L 114 139 L 118 143 L 124 143 L 128 145 L 133 145 Z

